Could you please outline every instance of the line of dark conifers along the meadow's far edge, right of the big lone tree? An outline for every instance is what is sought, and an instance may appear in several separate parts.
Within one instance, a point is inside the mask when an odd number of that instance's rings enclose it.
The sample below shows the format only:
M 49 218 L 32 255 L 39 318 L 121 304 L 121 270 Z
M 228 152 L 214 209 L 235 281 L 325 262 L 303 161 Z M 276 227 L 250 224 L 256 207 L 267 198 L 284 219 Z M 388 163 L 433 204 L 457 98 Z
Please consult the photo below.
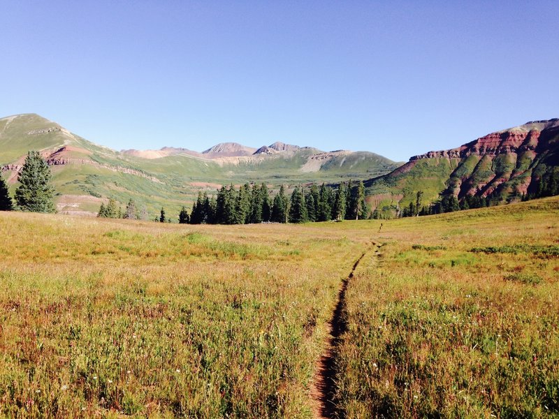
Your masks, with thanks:
M 559 172 L 542 177 L 537 191 L 516 197 L 530 200 L 559 195 Z M 440 200 L 423 205 L 423 191 L 417 191 L 416 200 L 406 207 L 395 207 L 396 217 L 423 216 L 469 210 L 494 205 L 491 196 L 468 195 L 458 200 L 451 191 L 444 191 Z M 129 200 L 122 211 L 115 200 L 101 204 L 100 217 L 147 219 L 145 209 L 138 209 L 134 200 Z M 337 189 L 322 184 L 296 186 L 287 196 L 282 185 L 277 193 L 268 190 L 266 184 L 246 183 L 236 189 L 233 184 L 222 186 L 217 195 L 198 192 L 198 198 L 190 212 L 186 207 L 178 214 L 179 223 L 186 224 L 249 224 L 249 223 L 307 223 L 313 221 L 341 221 L 344 219 L 381 219 L 381 212 L 370 211 L 365 201 L 363 182 L 342 182 Z M 171 222 L 165 209 L 161 208 L 154 221 Z

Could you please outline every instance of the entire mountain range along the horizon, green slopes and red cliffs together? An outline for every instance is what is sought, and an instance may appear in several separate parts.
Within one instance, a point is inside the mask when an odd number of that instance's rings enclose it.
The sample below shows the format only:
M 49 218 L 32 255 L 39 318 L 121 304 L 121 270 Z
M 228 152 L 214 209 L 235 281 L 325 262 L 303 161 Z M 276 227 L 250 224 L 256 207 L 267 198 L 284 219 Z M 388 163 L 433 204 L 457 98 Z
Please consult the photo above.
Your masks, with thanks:
M 203 152 L 163 147 L 117 152 L 85 140 L 39 115 L 0 119 L 0 167 L 11 189 L 27 151 L 36 149 L 52 168 L 57 210 L 95 214 L 101 202 L 134 198 L 151 214 L 189 206 L 198 190 L 222 184 L 339 184 L 363 180 L 367 200 L 391 216 L 423 192 L 423 203 L 442 193 L 511 202 L 537 189 L 559 166 L 559 119 L 528 122 L 490 133 L 465 145 L 413 156 L 398 163 L 371 152 L 336 150 L 274 142 L 259 148 L 223 142 Z

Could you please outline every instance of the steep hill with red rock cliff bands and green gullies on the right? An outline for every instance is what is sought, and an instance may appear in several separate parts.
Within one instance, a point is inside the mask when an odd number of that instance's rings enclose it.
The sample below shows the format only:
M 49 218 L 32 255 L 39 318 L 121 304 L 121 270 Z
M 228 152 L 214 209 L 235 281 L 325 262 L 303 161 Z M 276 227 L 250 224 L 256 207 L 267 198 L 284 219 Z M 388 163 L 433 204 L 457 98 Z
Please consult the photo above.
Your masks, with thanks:
M 475 196 L 494 204 L 533 196 L 559 177 L 559 119 L 529 122 L 492 133 L 457 149 L 415 156 L 393 172 L 365 182 L 373 209 L 391 217 L 442 196 Z

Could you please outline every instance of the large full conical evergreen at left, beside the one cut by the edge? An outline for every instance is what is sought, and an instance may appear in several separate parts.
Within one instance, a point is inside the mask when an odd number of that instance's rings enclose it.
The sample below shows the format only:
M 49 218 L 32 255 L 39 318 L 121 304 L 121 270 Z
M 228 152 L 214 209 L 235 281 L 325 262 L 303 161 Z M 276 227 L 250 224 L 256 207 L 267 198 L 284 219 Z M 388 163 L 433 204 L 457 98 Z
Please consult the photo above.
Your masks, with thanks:
M 55 189 L 50 184 L 50 168 L 39 152 L 28 152 L 17 180 L 15 190 L 17 206 L 22 211 L 55 212 Z

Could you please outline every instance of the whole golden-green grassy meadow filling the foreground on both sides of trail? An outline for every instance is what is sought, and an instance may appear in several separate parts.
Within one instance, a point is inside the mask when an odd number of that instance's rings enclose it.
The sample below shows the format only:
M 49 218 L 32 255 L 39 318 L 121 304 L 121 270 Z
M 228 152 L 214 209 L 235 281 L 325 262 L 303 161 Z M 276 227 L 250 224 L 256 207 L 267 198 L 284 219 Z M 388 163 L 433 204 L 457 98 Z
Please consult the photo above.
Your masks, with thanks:
M 0 416 L 558 417 L 559 199 L 380 222 L 0 213 Z

